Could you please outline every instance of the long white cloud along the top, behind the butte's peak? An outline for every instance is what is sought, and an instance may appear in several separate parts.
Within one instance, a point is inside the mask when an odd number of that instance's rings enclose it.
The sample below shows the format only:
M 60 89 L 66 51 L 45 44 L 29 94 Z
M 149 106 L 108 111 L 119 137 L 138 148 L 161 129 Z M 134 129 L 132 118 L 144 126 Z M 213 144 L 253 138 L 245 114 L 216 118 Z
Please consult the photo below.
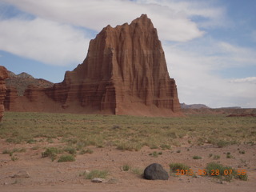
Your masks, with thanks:
M 186 14 L 159 3 L 127 0 L 8 0 L 6 2 L 41 18 L 97 31 L 108 24 L 116 26 L 130 22 L 141 14 L 148 14 L 163 40 L 185 42 L 204 34 L 195 22 L 186 17 Z

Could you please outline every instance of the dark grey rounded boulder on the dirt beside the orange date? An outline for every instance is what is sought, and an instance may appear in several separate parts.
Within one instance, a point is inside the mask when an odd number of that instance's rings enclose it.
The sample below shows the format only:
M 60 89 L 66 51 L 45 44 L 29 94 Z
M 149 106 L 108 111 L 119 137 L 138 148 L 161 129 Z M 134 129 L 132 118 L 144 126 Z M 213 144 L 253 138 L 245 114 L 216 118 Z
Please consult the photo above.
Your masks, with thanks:
M 153 163 L 144 170 L 144 178 L 149 180 L 168 180 L 169 175 L 160 164 Z

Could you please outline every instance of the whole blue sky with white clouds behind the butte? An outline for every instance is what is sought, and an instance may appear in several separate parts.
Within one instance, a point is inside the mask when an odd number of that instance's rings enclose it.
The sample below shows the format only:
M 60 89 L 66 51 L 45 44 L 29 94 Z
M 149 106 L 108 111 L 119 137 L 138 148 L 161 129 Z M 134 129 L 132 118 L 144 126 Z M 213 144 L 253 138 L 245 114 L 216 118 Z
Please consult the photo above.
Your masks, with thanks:
M 62 82 L 103 27 L 147 14 L 180 102 L 255 108 L 255 10 L 255 0 L 0 0 L 0 65 Z

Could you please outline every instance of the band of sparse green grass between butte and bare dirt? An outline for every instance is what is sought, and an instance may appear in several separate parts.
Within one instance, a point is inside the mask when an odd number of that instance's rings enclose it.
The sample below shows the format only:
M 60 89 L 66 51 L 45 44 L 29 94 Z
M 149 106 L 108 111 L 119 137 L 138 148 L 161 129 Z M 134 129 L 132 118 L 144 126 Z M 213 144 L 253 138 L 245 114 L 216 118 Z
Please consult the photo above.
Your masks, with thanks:
M 223 147 L 239 142 L 253 143 L 256 134 L 251 134 L 251 128 L 255 124 L 253 117 L 229 118 L 227 121 L 225 114 L 147 118 L 6 112 L 5 121 L 0 125 L 0 138 L 6 142 L 31 144 L 54 143 L 61 139 L 79 151 L 86 146 L 116 146 L 119 150 L 140 150 L 142 146 L 149 146 L 170 150 L 171 146 L 180 146 L 179 139 L 184 136 L 190 145 L 207 142 Z

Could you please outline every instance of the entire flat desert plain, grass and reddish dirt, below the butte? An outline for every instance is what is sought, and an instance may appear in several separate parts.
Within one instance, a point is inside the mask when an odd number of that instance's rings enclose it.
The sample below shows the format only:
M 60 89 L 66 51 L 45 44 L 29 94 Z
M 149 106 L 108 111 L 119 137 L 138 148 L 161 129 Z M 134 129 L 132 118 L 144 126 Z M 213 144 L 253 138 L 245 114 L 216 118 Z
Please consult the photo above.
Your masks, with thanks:
M 0 191 L 254 191 L 256 118 L 226 116 L 6 112 Z M 169 173 L 167 181 L 142 177 L 154 162 Z M 203 175 L 210 162 L 236 172 Z M 174 163 L 190 174 L 172 172 Z M 104 180 L 91 182 L 94 177 Z

